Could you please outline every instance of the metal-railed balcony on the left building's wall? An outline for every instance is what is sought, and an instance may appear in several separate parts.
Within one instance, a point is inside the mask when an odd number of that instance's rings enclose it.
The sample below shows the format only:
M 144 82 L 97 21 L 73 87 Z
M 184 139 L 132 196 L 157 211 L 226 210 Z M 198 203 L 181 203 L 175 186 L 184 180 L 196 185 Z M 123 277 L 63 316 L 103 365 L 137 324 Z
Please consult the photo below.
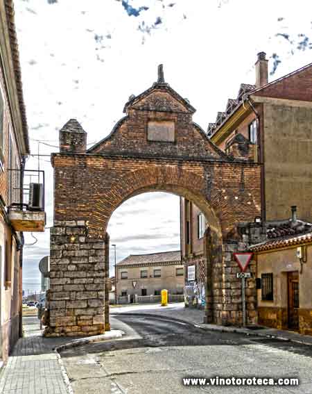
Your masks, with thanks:
M 15 231 L 44 231 L 44 171 L 9 170 L 8 216 Z

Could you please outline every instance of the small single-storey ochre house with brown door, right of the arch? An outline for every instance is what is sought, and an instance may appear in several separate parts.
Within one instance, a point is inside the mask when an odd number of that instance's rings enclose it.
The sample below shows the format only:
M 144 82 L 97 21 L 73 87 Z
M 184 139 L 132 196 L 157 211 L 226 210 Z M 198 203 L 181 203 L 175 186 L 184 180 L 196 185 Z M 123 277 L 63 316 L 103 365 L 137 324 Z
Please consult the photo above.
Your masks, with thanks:
M 250 250 L 257 263 L 258 323 L 312 335 L 312 224 L 270 222 L 267 239 Z

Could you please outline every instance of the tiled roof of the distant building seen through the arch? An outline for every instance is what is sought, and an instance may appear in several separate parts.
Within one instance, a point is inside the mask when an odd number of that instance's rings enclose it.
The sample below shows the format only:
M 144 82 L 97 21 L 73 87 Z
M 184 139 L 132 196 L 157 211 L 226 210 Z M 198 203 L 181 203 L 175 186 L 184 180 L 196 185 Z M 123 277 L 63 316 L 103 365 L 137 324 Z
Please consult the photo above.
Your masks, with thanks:
M 130 256 L 119 261 L 117 265 L 120 267 L 121 265 L 145 265 L 171 262 L 181 262 L 180 250 L 151 254 L 130 254 Z

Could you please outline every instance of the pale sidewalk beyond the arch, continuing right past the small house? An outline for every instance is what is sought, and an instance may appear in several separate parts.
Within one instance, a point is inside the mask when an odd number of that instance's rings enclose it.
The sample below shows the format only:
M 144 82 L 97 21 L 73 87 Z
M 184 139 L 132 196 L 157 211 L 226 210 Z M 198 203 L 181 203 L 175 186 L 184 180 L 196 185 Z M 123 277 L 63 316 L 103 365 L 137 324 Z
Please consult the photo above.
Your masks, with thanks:
M 195 308 L 185 308 L 184 302 L 177 304 L 168 304 L 168 306 L 160 306 L 160 304 L 141 304 L 134 306 L 121 306 L 114 307 L 111 309 L 112 315 L 119 313 L 147 313 L 151 315 L 166 316 L 166 318 L 173 318 L 177 320 L 183 320 L 193 325 L 198 325 L 202 329 L 209 329 L 212 331 L 224 331 L 224 332 L 239 332 L 247 335 L 257 335 L 278 338 L 281 340 L 291 340 L 297 343 L 304 343 L 304 345 L 312 345 L 312 336 L 298 334 L 293 331 L 284 331 L 279 329 L 272 329 L 268 327 L 254 327 L 254 329 L 248 329 L 245 327 L 225 327 L 219 325 L 206 325 L 203 324 L 205 311 Z

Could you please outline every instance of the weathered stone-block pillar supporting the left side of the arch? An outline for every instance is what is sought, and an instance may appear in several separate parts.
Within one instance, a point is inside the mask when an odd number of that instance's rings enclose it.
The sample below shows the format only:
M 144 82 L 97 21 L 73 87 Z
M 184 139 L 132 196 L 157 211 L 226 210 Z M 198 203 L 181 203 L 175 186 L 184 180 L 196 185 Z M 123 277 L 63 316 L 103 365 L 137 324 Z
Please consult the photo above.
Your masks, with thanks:
M 105 332 L 105 243 L 87 233 L 83 220 L 55 222 L 51 229 L 51 301 L 45 336 Z

